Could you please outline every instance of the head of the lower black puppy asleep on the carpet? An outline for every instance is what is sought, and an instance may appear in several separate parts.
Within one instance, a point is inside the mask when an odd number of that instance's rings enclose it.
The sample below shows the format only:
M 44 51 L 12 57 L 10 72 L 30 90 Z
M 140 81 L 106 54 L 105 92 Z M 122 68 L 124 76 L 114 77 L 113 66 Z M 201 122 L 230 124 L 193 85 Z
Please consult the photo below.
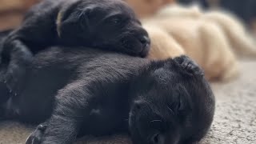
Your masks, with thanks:
M 138 78 L 130 110 L 135 144 L 178 144 L 200 140 L 214 115 L 210 86 L 187 57 L 155 62 Z

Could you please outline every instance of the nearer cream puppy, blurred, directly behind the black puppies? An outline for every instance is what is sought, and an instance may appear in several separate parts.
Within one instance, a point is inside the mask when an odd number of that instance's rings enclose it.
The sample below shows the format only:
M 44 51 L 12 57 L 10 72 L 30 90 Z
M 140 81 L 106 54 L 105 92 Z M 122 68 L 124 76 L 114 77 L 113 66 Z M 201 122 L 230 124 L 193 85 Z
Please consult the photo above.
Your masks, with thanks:
M 168 58 L 168 54 L 174 58 L 178 53 L 187 54 L 202 66 L 206 78 L 210 80 L 228 80 L 238 74 L 235 55 L 230 50 L 225 34 L 215 24 L 191 18 L 158 18 L 157 22 L 147 20 L 144 23 L 151 25 L 145 27 L 152 41 L 148 58 L 164 59 Z M 165 34 L 152 32 L 154 25 L 161 26 Z M 166 34 L 169 38 L 166 38 Z M 170 40 L 162 42 L 164 38 Z M 162 45 L 155 46 L 156 42 L 162 42 Z

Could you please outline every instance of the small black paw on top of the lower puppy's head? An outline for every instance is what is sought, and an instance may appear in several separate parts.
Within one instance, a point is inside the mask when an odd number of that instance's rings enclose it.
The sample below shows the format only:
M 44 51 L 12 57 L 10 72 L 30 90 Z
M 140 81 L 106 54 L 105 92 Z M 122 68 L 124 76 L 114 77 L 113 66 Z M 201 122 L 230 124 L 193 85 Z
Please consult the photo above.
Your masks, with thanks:
M 186 55 L 182 55 L 180 57 L 174 58 L 174 62 L 181 66 L 183 70 L 185 70 L 190 75 L 204 75 L 203 70 L 198 66 L 196 62 L 187 57 Z

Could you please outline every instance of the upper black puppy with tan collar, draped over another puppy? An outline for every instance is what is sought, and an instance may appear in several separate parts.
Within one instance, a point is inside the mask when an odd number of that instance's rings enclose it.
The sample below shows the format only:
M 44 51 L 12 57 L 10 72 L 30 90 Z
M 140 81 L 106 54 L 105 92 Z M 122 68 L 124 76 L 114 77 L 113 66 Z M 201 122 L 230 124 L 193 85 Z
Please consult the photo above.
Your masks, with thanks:
M 144 57 L 150 39 L 134 11 L 121 0 L 43 0 L 3 43 L 9 89 L 18 93 L 33 54 L 55 45 L 90 46 Z

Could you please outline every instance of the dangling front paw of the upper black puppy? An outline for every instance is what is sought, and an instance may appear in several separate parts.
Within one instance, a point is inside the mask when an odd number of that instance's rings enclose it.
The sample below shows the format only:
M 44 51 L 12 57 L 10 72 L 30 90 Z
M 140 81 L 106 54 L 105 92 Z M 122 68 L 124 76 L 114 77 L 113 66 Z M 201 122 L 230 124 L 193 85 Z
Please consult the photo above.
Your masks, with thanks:
M 20 86 L 22 85 L 22 80 L 25 78 L 25 74 L 25 66 L 10 64 L 4 78 L 4 82 L 6 83 L 10 94 L 17 95 L 19 93 L 19 90 L 21 90 Z

